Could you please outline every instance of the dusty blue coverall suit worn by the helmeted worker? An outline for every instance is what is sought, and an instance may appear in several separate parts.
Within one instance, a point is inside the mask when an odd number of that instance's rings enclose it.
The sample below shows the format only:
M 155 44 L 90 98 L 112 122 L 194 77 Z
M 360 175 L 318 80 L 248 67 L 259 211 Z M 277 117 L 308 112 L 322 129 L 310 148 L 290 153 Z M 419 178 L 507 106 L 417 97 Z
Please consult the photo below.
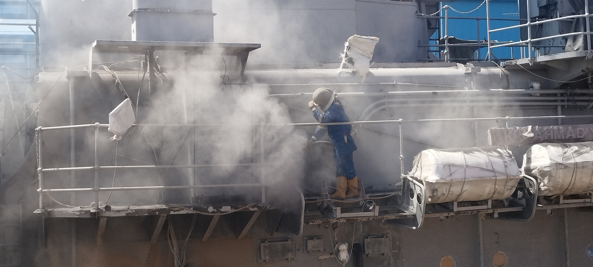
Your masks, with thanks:
M 344 111 L 344 107 L 338 101 L 331 103 L 331 106 L 326 112 L 321 112 L 315 107 L 311 109 L 313 117 L 318 122 L 349 122 L 348 116 Z M 356 177 L 354 170 L 354 161 L 352 160 L 352 152 L 356 150 L 354 139 L 350 135 L 352 125 L 320 125 L 315 129 L 313 139 L 316 141 L 321 138 L 326 131 L 330 136 L 331 142 L 334 145 L 334 160 L 336 161 L 336 177 L 345 176 L 347 179 Z

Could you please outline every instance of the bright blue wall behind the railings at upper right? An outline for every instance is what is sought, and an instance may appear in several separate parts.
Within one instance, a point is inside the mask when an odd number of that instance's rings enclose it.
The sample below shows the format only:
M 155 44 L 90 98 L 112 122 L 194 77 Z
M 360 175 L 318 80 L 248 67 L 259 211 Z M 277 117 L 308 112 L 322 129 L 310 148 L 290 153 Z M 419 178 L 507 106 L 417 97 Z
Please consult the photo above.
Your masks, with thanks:
M 449 5 L 461 12 L 471 11 L 478 7 L 482 0 L 457 0 L 454 2 L 442 2 L 442 5 Z M 490 0 L 489 1 L 490 18 L 506 18 L 519 19 L 519 4 L 517 0 Z M 460 14 L 449 9 L 449 17 L 464 17 L 464 18 L 484 18 L 484 20 L 468 20 L 468 19 L 449 19 L 448 34 L 449 36 L 457 37 L 458 39 L 466 40 L 484 40 L 486 39 L 486 4 L 470 14 Z M 444 16 L 444 11 L 441 11 L 441 16 Z M 519 21 L 499 21 L 490 20 L 490 28 L 502 28 L 519 24 Z M 444 36 L 444 20 L 441 20 L 441 36 Z M 519 41 L 518 28 L 512 30 L 496 31 L 490 34 L 490 40 L 498 41 Z M 493 55 L 498 59 L 521 58 L 521 50 L 519 47 L 498 47 L 492 49 Z M 480 49 L 480 59 L 486 57 L 487 48 Z M 477 56 L 477 55 L 476 55 Z M 493 58 L 494 59 L 494 58 Z

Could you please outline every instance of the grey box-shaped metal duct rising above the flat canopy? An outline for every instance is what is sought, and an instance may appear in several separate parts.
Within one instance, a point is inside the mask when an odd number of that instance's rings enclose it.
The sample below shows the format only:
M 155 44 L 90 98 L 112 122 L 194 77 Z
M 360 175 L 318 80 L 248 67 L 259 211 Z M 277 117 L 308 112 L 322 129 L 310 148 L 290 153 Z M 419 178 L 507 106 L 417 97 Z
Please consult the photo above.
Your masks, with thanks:
M 212 0 L 133 0 L 132 40 L 213 42 Z

